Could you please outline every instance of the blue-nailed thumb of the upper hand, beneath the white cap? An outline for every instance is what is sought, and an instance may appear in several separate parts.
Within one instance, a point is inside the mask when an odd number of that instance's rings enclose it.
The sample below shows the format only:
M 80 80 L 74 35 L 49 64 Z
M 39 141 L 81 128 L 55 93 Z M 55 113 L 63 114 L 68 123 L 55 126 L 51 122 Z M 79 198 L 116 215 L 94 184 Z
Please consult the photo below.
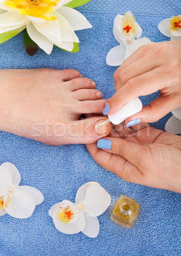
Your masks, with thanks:
M 125 124 L 127 127 L 130 127 L 136 119 L 139 119 L 140 122 L 157 122 L 173 109 L 179 108 L 179 106 L 180 100 L 178 94 L 160 97 L 153 100 L 150 105 L 143 107 L 139 113 L 127 118 Z

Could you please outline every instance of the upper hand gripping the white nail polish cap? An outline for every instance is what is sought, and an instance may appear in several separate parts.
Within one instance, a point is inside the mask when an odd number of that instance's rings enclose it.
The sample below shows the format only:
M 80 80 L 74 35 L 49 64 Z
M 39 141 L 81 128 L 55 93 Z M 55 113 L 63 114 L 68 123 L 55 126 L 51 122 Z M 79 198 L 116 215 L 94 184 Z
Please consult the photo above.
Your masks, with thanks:
M 135 119 L 137 123 L 139 119 L 141 122 L 158 121 L 181 106 L 181 41 L 150 43 L 140 47 L 116 70 L 114 81 L 116 93 L 110 99 L 109 114 L 116 113 L 136 97 L 159 90 L 159 98 L 125 123 Z

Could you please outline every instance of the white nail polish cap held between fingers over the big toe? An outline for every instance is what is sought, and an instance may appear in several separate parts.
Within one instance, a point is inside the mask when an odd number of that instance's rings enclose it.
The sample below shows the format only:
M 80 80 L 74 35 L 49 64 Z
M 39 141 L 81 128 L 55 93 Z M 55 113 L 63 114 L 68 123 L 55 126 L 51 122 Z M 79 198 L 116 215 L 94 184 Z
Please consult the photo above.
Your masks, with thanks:
M 139 98 L 133 99 L 125 104 L 119 111 L 113 115 L 108 115 L 110 122 L 114 125 L 119 125 L 128 117 L 135 115 L 143 108 L 142 102 Z

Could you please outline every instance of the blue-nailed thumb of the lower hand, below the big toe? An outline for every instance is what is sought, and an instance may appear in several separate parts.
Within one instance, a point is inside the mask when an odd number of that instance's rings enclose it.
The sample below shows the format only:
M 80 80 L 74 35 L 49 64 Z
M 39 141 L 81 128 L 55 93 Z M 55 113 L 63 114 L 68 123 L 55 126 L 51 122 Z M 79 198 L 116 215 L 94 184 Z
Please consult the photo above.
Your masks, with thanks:
M 147 146 L 116 137 L 106 137 L 97 142 L 97 147 L 124 157 L 135 166 L 140 166 L 147 153 Z

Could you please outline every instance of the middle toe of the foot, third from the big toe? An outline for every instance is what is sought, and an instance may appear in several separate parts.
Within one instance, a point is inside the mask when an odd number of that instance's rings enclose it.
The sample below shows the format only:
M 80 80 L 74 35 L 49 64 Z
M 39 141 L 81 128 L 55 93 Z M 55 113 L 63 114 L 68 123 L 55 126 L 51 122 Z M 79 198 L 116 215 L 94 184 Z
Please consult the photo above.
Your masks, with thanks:
M 80 101 L 102 99 L 102 93 L 99 90 L 94 89 L 76 90 L 74 95 L 76 99 Z

